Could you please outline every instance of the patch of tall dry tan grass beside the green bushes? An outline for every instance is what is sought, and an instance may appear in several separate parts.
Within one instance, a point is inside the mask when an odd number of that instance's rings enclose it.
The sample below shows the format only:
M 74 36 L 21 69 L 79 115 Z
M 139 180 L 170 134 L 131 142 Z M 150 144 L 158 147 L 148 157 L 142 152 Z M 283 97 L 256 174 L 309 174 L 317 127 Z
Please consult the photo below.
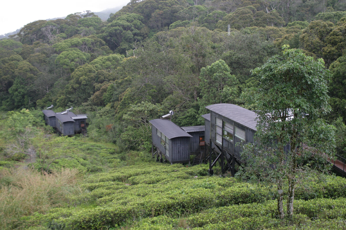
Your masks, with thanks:
M 20 227 L 20 219 L 66 206 L 69 195 L 80 193 L 77 170 L 42 174 L 30 169 L 0 171 L 0 229 Z

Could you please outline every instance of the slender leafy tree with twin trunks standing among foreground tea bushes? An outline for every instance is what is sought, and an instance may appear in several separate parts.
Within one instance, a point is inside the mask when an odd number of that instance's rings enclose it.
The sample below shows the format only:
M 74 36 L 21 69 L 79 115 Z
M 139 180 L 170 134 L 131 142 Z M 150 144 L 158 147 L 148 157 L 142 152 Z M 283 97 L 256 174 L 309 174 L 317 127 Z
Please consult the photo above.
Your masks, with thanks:
M 287 216 L 291 219 L 300 173 L 307 162 L 314 165 L 318 159 L 327 164 L 327 157 L 333 156 L 335 131 L 319 118 L 330 111 L 329 72 L 324 61 L 288 47 L 283 46 L 281 56 L 253 70 L 260 82 L 252 98 L 258 108 L 256 151 L 244 151 L 243 157 L 248 159 L 245 171 L 252 177 L 276 183 L 280 218 L 285 215 L 283 185 L 287 180 Z

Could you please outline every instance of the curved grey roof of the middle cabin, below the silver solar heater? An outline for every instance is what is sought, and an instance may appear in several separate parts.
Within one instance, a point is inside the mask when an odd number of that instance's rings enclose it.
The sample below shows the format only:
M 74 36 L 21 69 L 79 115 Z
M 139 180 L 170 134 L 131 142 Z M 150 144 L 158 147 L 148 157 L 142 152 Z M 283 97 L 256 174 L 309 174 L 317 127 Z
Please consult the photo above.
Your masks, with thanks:
M 189 133 L 185 132 L 168 119 L 155 119 L 149 122 L 152 123 L 153 126 L 162 132 L 168 139 L 175 137 L 192 137 Z

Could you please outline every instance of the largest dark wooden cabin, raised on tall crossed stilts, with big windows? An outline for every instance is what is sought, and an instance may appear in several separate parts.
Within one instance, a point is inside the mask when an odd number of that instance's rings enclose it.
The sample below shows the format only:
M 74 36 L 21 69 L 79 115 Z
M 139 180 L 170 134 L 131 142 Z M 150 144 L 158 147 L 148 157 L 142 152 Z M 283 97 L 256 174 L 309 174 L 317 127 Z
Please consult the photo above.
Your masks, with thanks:
M 234 175 L 235 163 L 240 165 L 242 162 L 240 153 L 243 145 L 254 142 L 257 114 L 235 104 L 212 104 L 206 108 L 210 111 L 210 118 L 207 114 L 203 115 L 206 127 L 207 123 L 210 123 L 208 141 L 210 174 L 213 172 L 212 167 L 219 161 L 222 172 L 230 170 Z

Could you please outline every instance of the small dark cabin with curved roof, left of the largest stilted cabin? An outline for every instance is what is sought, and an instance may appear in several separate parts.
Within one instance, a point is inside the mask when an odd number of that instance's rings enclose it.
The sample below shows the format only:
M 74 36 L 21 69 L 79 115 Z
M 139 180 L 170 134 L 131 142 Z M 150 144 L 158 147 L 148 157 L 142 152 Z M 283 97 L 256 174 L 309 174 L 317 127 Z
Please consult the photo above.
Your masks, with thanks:
M 152 124 L 153 148 L 157 159 L 166 158 L 171 164 L 190 161 L 189 141 L 192 136 L 168 119 L 155 119 Z M 154 151 L 153 151 L 154 152 Z

